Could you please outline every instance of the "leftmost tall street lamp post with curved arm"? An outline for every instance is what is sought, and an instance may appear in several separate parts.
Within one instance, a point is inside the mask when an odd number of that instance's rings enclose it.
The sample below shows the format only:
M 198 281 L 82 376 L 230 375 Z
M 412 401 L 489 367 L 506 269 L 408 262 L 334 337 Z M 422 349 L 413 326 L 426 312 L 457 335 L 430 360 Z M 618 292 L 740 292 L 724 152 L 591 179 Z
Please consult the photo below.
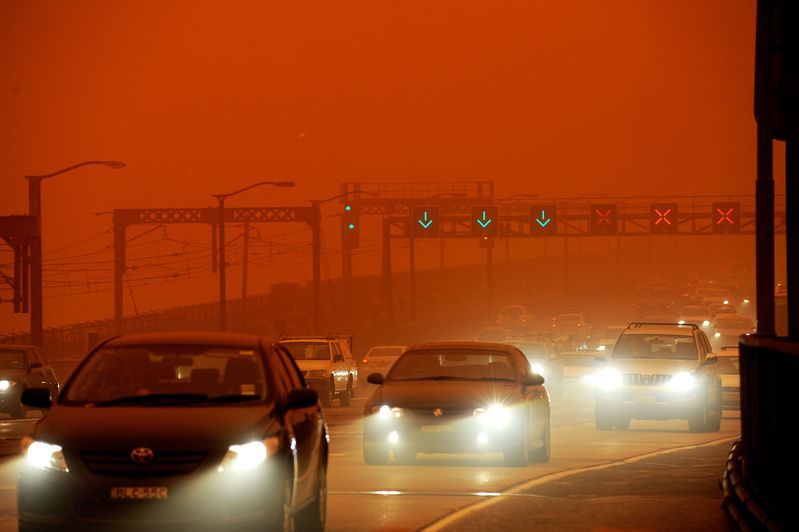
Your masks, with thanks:
M 44 312 L 42 309 L 42 181 L 57 175 L 71 172 L 82 166 L 108 166 L 109 168 L 125 168 L 119 161 L 83 161 L 67 166 L 56 172 L 44 175 L 26 175 L 28 180 L 28 214 L 36 218 L 36 237 L 31 244 L 31 344 L 42 347 L 44 328 Z

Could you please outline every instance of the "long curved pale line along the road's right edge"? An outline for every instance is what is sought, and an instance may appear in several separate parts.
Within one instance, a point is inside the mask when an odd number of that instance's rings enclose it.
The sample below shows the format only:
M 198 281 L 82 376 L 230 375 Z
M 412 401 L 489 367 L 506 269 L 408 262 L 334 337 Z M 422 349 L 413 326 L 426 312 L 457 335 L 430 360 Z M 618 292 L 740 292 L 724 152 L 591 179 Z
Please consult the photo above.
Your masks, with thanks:
M 454 512 L 445 515 L 444 517 L 437 519 L 427 525 L 426 527 L 422 528 L 421 530 L 424 532 L 437 532 L 439 530 L 443 530 L 447 526 L 459 521 L 460 519 L 466 517 L 469 514 L 474 512 L 478 512 L 480 510 L 484 510 L 489 506 L 493 506 L 497 504 L 506 496 L 509 495 L 516 495 L 520 492 L 526 491 L 530 488 L 534 488 L 536 486 L 540 486 L 541 484 L 546 484 L 548 482 L 552 482 L 554 480 L 560 480 L 562 478 L 570 477 L 572 475 L 577 475 L 580 473 L 586 473 L 588 471 L 601 471 L 603 469 L 610 469 L 612 467 L 626 465 L 626 464 L 634 464 L 636 462 L 640 462 L 641 460 L 646 460 L 647 458 L 654 458 L 656 456 L 663 456 L 667 454 L 676 453 L 679 451 L 690 451 L 691 449 L 700 449 L 702 447 L 710 447 L 712 445 L 718 445 L 724 442 L 732 442 L 740 438 L 738 436 L 728 436 L 726 438 L 719 438 L 717 440 L 712 440 L 705 443 L 700 443 L 696 445 L 684 445 L 681 447 L 672 447 L 669 449 L 661 449 L 659 451 L 653 451 L 651 453 L 641 454 L 638 456 L 632 456 L 630 458 L 625 458 L 623 460 L 617 460 L 610 463 L 598 464 L 593 466 L 586 466 L 586 467 L 579 467 L 577 469 L 567 469 L 565 471 L 558 471 L 557 473 L 550 473 L 549 475 L 544 475 L 542 477 L 537 477 L 526 482 L 522 482 L 521 484 L 517 484 L 512 486 L 510 489 L 507 489 L 501 492 L 501 495 L 496 497 L 490 497 L 486 500 L 470 504 L 468 506 L 464 506 L 460 510 L 455 510 Z

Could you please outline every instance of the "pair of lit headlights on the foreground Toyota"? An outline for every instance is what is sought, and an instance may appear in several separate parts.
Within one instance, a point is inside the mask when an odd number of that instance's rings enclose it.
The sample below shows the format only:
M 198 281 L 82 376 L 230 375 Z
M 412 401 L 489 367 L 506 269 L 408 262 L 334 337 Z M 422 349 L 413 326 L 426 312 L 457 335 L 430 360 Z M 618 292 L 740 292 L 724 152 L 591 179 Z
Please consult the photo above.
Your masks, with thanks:
M 267 458 L 277 454 L 279 447 L 280 439 L 277 436 L 270 436 L 261 441 L 231 445 L 217 467 L 217 471 L 221 473 L 255 469 Z M 64 459 L 64 451 L 60 445 L 36 441 L 28 437 L 22 441 L 22 454 L 25 456 L 25 462 L 35 469 L 69 472 Z

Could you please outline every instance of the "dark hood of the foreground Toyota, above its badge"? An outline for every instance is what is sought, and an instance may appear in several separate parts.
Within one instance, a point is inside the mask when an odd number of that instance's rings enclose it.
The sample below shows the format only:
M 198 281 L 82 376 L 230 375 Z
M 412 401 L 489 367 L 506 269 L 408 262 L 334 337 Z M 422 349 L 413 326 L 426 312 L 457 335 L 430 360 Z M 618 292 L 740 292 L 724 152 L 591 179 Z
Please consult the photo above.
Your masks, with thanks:
M 56 405 L 37 423 L 35 439 L 79 446 L 102 442 L 174 441 L 182 446 L 225 445 L 263 438 L 276 425 L 272 407 L 82 407 Z M 185 445 L 184 445 L 185 444 Z

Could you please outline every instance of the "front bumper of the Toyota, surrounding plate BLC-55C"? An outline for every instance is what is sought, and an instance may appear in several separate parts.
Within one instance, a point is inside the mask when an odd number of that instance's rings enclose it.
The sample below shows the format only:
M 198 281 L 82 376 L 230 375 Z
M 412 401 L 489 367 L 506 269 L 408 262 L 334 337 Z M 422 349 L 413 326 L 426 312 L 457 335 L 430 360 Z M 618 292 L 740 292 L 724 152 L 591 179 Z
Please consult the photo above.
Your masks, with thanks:
M 188 475 L 114 477 L 23 466 L 17 486 L 20 523 L 32 529 L 218 530 L 279 523 L 282 468 L 245 472 L 205 469 Z M 113 499 L 115 487 L 166 487 L 165 499 Z

